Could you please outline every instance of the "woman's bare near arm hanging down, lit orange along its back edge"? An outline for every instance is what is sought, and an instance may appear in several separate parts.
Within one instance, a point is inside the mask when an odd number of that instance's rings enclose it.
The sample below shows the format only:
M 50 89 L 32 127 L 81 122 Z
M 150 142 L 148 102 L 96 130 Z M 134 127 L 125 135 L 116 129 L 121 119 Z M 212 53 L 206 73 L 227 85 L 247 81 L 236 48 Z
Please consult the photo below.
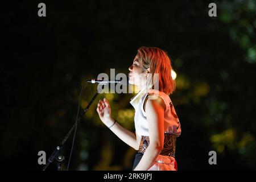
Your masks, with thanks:
M 148 132 L 150 144 L 134 171 L 146 171 L 149 169 L 160 151 L 163 149 L 164 142 L 164 101 L 158 97 L 156 100 L 147 100 L 146 116 L 148 122 Z

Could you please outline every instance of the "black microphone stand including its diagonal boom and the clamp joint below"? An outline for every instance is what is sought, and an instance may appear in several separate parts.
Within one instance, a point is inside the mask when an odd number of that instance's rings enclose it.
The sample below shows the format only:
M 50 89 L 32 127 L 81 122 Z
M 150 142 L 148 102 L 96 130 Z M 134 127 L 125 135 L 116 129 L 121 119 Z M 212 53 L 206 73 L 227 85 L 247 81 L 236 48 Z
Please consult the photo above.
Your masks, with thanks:
M 77 119 L 77 123 L 75 122 L 75 124 L 72 126 L 71 130 L 69 130 L 68 134 L 66 135 L 66 137 L 63 139 L 63 141 L 60 143 L 59 146 L 56 147 L 56 149 L 52 152 L 51 156 L 48 158 L 47 160 L 47 164 L 46 166 L 43 167 L 42 171 L 45 171 L 46 168 L 49 166 L 50 163 L 53 162 L 54 159 L 57 160 L 58 165 L 57 165 L 57 171 L 61 171 L 61 166 L 63 163 L 63 160 L 65 159 L 64 155 L 61 154 L 60 150 L 61 148 L 63 148 L 65 142 L 67 141 L 67 139 L 69 138 L 69 136 L 71 135 L 72 131 L 75 129 L 76 124 L 78 124 L 82 117 L 84 116 L 84 114 L 86 113 L 86 111 L 88 111 L 90 105 L 92 105 L 93 101 L 95 100 L 95 98 L 98 96 L 99 92 L 101 92 L 101 90 L 104 88 L 105 84 L 100 84 L 102 85 L 101 88 L 99 88 L 99 90 L 97 90 L 97 92 L 94 94 L 92 100 L 90 100 L 89 104 L 86 106 L 86 108 L 84 109 L 84 111 L 82 111 L 80 117 Z

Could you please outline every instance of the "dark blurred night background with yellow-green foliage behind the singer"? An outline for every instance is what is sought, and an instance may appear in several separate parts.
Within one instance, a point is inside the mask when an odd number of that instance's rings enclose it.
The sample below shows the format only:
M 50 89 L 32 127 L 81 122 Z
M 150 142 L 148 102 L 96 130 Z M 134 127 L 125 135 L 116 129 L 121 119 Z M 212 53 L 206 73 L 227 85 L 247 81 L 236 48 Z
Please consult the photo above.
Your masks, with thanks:
M 255 169 L 255 1 L 41 1 L 1 7 L 3 169 L 40 170 L 75 122 L 79 92 L 99 73 L 128 73 L 137 49 L 171 56 L 171 95 L 181 122 L 179 170 Z M 96 92 L 86 84 L 80 108 Z M 72 170 L 130 170 L 135 150 L 106 129 L 96 112 L 107 97 L 113 118 L 134 130 L 134 94 L 101 94 L 77 130 Z M 72 137 L 63 148 L 67 167 Z M 209 165 L 208 152 L 217 152 Z M 56 163 L 49 166 L 55 170 Z

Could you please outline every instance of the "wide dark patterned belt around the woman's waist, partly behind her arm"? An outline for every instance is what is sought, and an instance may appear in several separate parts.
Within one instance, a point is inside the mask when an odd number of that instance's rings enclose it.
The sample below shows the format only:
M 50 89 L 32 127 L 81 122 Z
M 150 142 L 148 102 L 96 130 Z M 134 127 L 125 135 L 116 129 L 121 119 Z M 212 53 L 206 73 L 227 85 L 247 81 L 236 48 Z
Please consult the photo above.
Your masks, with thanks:
M 148 145 L 150 143 L 150 139 L 148 136 L 141 137 L 141 143 L 139 144 L 138 153 L 144 154 Z M 176 135 L 170 133 L 164 133 L 164 146 L 160 155 L 167 155 L 175 158 L 175 146 L 176 146 Z

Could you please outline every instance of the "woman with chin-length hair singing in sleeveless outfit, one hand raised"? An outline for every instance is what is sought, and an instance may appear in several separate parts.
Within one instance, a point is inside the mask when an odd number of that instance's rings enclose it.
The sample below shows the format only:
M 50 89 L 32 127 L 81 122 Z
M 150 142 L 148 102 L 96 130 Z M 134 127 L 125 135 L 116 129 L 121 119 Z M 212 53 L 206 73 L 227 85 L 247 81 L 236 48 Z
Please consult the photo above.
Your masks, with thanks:
M 101 121 L 123 142 L 138 150 L 134 171 L 177 169 L 175 143 L 181 127 L 169 97 L 175 90 L 171 69 L 171 60 L 162 49 L 138 49 L 133 65 L 129 67 L 129 83 L 140 89 L 130 102 L 135 109 L 135 133 L 111 117 L 108 100 L 104 98 L 98 102 L 97 112 Z

